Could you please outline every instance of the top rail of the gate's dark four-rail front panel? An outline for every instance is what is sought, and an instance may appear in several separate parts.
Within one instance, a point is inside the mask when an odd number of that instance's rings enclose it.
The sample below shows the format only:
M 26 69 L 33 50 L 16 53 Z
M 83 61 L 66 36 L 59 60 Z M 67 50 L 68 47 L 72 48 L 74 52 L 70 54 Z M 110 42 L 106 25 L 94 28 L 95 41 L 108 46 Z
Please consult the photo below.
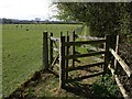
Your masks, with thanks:
M 81 42 L 65 42 L 64 46 L 81 45 L 81 44 L 97 44 L 97 43 L 105 43 L 105 42 L 106 42 L 106 40 L 81 41 Z

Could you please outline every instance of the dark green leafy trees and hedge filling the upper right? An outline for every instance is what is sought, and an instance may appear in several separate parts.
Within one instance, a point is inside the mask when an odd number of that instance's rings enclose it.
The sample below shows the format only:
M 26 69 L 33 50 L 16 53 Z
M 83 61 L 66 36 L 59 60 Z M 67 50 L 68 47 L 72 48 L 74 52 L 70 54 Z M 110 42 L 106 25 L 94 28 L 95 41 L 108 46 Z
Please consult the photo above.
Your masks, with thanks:
M 84 22 L 90 35 L 120 35 L 120 54 L 132 64 L 132 2 L 57 2 L 57 19 Z

